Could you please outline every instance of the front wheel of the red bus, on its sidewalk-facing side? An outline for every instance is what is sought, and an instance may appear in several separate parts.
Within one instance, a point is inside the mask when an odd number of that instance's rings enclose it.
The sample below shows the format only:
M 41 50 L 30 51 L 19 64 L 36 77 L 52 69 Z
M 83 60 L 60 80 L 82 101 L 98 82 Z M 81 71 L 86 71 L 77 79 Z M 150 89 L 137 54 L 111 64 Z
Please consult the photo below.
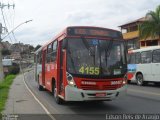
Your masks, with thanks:
M 53 85 L 53 95 L 54 95 L 54 99 L 56 101 L 57 104 L 61 105 L 64 103 L 64 101 L 57 95 L 57 88 L 56 88 L 56 83 Z

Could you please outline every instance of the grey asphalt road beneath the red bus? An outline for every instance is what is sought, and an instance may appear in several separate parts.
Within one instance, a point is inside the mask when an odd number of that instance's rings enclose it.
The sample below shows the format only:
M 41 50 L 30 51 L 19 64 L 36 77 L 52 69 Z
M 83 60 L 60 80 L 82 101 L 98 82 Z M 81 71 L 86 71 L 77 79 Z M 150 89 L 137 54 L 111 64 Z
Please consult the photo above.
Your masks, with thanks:
M 106 114 L 160 114 L 160 86 L 128 85 L 124 98 L 103 102 L 67 102 L 58 105 L 48 91 L 38 91 L 33 71 L 25 74 L 25 81 L 37 98 L 56 119 L 106 119 Z

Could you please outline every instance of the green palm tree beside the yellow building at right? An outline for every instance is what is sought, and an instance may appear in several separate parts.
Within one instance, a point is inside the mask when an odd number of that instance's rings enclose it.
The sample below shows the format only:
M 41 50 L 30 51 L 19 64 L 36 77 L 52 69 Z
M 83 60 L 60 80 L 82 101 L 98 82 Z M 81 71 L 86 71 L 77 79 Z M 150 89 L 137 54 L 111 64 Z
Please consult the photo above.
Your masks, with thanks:
M 146 14 L 146 20 L 139 26 L 140 38 L 158 37 L 160 40 L 160 5 Z

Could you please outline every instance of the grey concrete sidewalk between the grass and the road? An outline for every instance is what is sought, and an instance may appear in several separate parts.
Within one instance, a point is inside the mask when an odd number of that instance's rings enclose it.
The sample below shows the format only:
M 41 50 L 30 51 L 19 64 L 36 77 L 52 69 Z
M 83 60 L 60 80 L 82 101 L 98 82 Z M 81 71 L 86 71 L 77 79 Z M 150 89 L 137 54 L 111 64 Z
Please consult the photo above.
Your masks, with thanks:
M 3 114 L 46 114 L 27 90 L 23 75 L 18 75 L 11 86 Z

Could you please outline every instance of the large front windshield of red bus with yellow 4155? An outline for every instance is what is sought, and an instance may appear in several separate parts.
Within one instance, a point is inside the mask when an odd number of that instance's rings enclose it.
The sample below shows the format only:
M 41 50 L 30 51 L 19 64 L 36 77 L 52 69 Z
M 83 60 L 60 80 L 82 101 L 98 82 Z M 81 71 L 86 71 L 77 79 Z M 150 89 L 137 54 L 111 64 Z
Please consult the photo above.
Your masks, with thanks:
M 66 40 L 67 72 L 95 76 L 124 75 L 126 61 L 123 41 L 95 38 Z

